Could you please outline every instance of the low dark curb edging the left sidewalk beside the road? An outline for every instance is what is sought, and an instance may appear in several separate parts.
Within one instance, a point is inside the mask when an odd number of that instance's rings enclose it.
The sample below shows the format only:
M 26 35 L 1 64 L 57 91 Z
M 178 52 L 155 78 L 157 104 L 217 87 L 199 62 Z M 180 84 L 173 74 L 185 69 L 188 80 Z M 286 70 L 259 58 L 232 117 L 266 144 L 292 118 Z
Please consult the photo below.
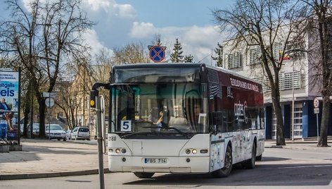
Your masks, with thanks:
M 17 179 L 32 179 L 32 178 L 49 178 L 60 176 L 82 176 L 98 174 L 98 169 L 85 170 L 85 171 L 70 171 L 70 172 L 58 172 L 58 173 L 27 173 L 27 174 L 12 174 L 12 175 L 0 175 L 1 180 L 17 180 Z M 107 168 L 104 169 L 104 173 L 110 173 Z

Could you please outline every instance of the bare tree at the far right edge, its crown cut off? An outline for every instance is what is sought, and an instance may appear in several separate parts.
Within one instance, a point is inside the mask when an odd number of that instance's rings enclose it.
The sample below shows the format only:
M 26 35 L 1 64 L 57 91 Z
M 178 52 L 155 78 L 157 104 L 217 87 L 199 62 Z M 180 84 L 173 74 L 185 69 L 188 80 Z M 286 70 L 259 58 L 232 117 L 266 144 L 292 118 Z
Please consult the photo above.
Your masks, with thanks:
M 323 109 L 321 117 L 321 130 L 317 146 L 327 147 L 328 120 L 330 117 L 332 94 L 332 3 L 330 0 L 302 0 L 307 8 L 307 22 L 309 35 L 314 36 L 313 46 L 310 51 L 312 57 L 310 64 L 317 70 L 317 75 L 312 75 L 312 82 L 321 86 Z M 317 36 L 317 37 L 316 37 Z M 315 56 L 317 55 L 317 56 Z

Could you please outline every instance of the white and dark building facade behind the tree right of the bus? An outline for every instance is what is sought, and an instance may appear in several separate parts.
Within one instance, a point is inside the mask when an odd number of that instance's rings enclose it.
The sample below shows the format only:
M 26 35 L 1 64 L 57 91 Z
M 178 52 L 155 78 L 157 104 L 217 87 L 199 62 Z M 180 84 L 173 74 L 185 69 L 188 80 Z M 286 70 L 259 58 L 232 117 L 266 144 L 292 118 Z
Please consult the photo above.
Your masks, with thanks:
M 319 114 L 314 114 L 314 98 L 321 99 L 321 85 L 313 80 L 313 75 L 318 73 L 313 65 L 318 59 L 314 51 L 308 51 L 315 47 L 316 41 L 312 35 L 307 35 L 303 40 L 288 41 L 283 57 L 280 56 L 284 47 L 282 40 L 274 43 L 272 47 L 274 59 L 283 59 L 283 66 L 279 73 L 279 88 L 285 138 L 317 137 L 317 126 L 320 131 L 322 104 L 320 103 L 319 106 Z M 248 47 L 234 43 L 234 40 L 223 42 L 223 47 L 224 68 L 262 83 L 266 138 L 275 139 L 276 115 L 272 106 L 269 80 L 260 61 L 260 47 Z M 317 116 L 319 123 L 317 123 Z M 332 135 L 331 123 L 332 120 L 328 126 L 328 135 Z

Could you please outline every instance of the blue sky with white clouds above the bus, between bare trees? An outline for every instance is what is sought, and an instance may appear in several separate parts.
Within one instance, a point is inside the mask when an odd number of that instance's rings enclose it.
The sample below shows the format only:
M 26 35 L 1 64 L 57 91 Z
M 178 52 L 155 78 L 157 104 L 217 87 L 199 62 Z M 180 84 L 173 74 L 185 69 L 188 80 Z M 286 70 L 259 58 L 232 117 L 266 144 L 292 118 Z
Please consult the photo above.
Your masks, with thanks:
M 30 0 L 19 0 L 27 3 Z M 41 0 L 46 1 L 46 0 Z M 185 55 L 194 61 L 211 62 L 212 49 L 224 37 L 215 25 L 211 10 L 226 8 L 229 0 L 82 0 L 82 9 L 94 25 L 86 34 L 93 52 L 122 48 L 140 42 L 146 48 L 160 35 L 170 57 L 174 42 L 179 39 Z M 6 18 L 6 4 L 0 1 L 0 18 Z

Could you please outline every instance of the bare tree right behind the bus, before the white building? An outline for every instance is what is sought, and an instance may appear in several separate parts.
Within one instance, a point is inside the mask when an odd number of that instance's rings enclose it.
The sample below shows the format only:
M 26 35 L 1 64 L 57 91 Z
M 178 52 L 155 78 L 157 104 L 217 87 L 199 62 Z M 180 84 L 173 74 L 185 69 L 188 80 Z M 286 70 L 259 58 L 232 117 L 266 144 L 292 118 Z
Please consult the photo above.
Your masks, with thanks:
M 300 27 L 298 1 L 238 0 L 229 10 L 215 9 L 213 16 L 222 32 L 229 34 L 234 47 L 258 47 L 260 65 L 267 74 L 272 90 L 272 103 L 276 114 L 276 145 L 286 145 L 283 116 L 280 105 L 279 72 L 283 65 L 286 45 L 296 37 Z M 286 26 L 286 27 L 285 27 Z

